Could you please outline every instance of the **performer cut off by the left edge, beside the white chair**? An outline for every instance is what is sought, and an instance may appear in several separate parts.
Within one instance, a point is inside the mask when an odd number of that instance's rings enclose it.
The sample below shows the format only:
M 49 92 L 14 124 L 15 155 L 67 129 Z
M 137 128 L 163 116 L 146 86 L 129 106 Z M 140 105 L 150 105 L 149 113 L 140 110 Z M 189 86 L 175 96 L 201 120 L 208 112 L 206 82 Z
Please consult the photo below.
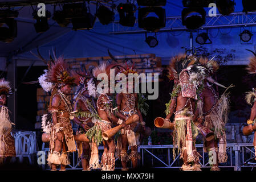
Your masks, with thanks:
M 0 164 L 9 162 L 16 156 L 14 138 L 11 136 L 11 123 L 9 110 L 5 106 L 7 97 L 11 94 L 10 82 L 4 78 L 0 80 Z

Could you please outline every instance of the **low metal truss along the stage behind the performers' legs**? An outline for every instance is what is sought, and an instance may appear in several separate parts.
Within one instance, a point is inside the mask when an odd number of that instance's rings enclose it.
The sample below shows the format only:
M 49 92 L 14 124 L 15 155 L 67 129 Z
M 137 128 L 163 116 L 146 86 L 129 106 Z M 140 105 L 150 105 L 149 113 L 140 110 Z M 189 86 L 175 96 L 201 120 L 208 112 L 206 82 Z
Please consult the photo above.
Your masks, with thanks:
M 200 153 L 201 168 L 210 168 L 208 162 L 208 154 L 203 150 L 203 144 L 196 144 L 197 151 Z M 99 147 L 99 158 L 103 153 L 103 146 Z M 49 148 L 42 148 L 42 151 L 47 151 Z M 182 160 L 180 155 L 177 155 L 173 159 L 173 145 L 151 145 L 151 146 L 139 146 L 138 151 L 141 155 L 140 166 L 147 166 L 151 168 L 181 168 Z M 231 168 L 234 171 L 241 171 L 241 168 L 250 167 L 253 168 L 255 164 L 247 163 L 246 160 L 254 156 L 254 146 L 252 143 L 227 143 L 227 162 L 220 164 L 220 168 Z M 47 155 L 46 155 L 47 156 Z M 80 165 L 80 159 L 78 159 L 77 152 L 73 152 L 70 156 L 71 164 L 67 166 L 67 169 L 82 169 Z M 118 159 L 116 159 L 118 160 Z M 48 170 L 48 166 L 43 166 Z M 121 166 L 116 163 L 116 169 L 120 169 Z

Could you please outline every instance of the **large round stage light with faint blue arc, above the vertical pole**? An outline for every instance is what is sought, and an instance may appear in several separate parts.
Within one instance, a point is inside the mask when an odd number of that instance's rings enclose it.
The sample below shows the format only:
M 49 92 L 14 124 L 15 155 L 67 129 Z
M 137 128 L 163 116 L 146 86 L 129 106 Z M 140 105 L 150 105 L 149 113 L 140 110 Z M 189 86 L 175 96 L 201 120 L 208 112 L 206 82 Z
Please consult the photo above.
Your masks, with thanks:
M 200 28 L 205 24 L 206 12 L 200 7 L 189 7 L 182 10 L 182 25 L 190 30 Z

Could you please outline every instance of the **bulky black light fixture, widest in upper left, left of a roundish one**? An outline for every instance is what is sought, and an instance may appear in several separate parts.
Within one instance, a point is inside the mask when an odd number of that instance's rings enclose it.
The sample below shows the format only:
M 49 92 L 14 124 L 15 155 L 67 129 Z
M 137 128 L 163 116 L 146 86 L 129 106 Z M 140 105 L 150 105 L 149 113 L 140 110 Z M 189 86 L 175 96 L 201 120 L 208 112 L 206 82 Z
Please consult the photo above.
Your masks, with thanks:
M 73 30 L 88 30 L 94 27 L 96 16 L 87 12 L 84 3 L 73 3 L 63 5 L 63 12 L 66 19 L 71 19 Z

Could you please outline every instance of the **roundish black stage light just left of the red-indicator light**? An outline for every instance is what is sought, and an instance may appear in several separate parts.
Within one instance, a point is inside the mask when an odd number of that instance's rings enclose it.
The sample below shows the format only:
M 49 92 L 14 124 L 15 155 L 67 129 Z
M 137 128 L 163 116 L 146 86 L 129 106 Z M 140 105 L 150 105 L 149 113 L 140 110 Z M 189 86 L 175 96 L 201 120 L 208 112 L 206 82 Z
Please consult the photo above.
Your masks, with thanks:
M 115 13 L 102 5 L 96 10 L 95 15 L 99 18 L 101 24 L 109 24 L 115 20 Z

